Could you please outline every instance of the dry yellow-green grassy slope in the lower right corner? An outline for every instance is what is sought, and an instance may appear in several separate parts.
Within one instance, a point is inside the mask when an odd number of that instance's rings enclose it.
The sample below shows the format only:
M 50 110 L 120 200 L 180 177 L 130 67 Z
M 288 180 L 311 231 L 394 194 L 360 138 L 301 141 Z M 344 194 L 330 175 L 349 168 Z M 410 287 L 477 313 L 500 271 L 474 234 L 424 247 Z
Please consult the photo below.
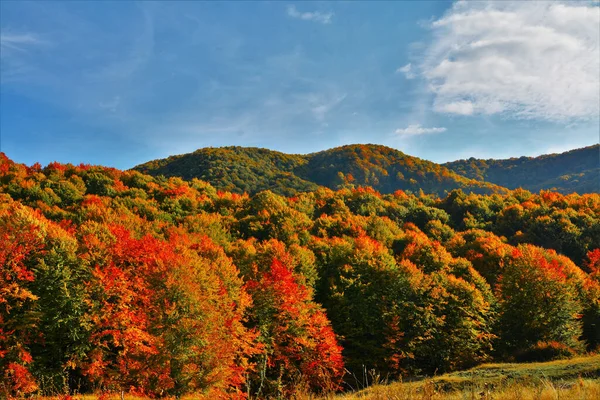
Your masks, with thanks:
M 337 400 L 600 399 L 600 355 L 545 363 L 484 364 L 415 382 L 374 384 Z

